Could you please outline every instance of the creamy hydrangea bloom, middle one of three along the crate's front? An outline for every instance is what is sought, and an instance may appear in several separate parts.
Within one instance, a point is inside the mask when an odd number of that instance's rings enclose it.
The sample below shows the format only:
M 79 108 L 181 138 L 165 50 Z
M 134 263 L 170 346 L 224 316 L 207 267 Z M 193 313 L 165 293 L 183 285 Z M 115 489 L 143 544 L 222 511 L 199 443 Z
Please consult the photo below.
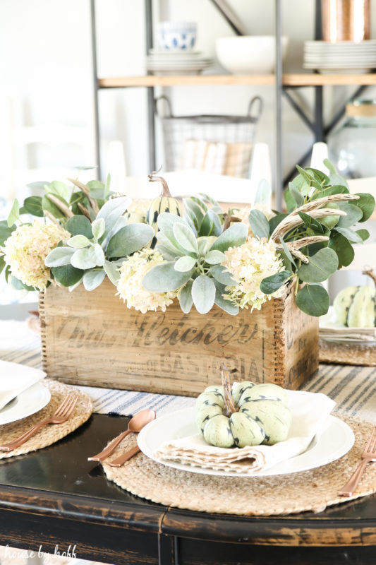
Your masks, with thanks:
M 164 258 L 159 251 L 154 249 L 141 249 L 129 257 L 120 268 L 120 278 L 117 285 L 117 294 L 126 302 L 128 308 L 140 310 L 145 314 L 148 310 L 162 312 L 172 304 L 177 291 L 150 292 L 142 287 L 142 279 L 148 270 L 155 265 L 164 263 Z

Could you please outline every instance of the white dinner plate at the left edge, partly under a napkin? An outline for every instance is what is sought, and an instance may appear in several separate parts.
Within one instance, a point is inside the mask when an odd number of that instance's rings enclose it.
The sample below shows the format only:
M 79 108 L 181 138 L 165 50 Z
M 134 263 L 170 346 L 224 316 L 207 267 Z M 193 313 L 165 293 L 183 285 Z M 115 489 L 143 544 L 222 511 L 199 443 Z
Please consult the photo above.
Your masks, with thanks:
M 42 383 L 33 384 L 0 410 L 0 425 L 10 424 L 35 414 L 42 410 L 49 400 L 51 400 L 49 389 Z

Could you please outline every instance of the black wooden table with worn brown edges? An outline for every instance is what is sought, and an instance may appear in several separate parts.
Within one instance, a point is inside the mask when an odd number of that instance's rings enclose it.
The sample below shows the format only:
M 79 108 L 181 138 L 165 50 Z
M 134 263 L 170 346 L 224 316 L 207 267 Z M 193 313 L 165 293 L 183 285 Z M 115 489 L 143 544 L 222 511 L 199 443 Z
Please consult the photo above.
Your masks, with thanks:
M 54 446 L 0 460 L 0 545 L 52 554 L 70 546 L 80 559 L 116 565 L 376 563 L 376 496 L 318 514 L 245 518 L 171 509 L 123 491 L 87 456 L 127 421 L 93 415 Z

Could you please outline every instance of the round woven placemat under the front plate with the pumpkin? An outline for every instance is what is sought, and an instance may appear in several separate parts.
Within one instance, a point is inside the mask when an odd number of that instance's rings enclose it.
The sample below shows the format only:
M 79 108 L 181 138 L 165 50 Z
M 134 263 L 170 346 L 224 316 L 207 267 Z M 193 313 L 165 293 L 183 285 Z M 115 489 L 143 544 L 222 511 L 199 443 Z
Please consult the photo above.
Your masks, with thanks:
M 326 506 L 376 492 L 376 465 L 368 465 L 353 496 L 337 491 L 351 476 L 360 460 L 365 439 L 374 424 L 342 417 L 356 436 L 346 456 L 309 471 L 269 477 L 216 477 L 181 471 L 156 463 L 139 453 L 121 468 L 102 463 L 107 478 L 144 499 L 199 512 L 276 516 L 303 511 L 321 512 Z M 136 444 L 124 439 L 109 461 Z

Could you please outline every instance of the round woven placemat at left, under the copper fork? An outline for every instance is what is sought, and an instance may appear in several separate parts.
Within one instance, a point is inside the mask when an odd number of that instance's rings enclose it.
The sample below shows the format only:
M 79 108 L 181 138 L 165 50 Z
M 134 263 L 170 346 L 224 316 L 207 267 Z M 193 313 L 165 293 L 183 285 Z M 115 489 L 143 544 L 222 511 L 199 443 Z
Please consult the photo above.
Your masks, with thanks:
M 29 453 L 29 451 L 37 451 L 37 449 L 50 446 L 80 427 L 86 420 L 89 420 L 92 414 L 92 400 L 90 396 L 73 386 L 68 386 L 58 381 L 45 379 L 43 384 L 51 392 L 51 400 L 47 406 L 27 418 L 23 418 L 23 420 L 1 426 L 1 444 L 13 441 L 13 439 L 26 432 L 34 424 L 37 424 L 37 422 L 54 414 L 66 395 L 74 392 L 78 394 L 79 398 L 72 415 L 63 424 L 49 424 L 42 427 L 28 441 L 25 441 L 25 444 L 22 444 L 17 449 L 13 449 L 13 451 L 0 451 L 0 459 L 22 455 L 23 453 Z

